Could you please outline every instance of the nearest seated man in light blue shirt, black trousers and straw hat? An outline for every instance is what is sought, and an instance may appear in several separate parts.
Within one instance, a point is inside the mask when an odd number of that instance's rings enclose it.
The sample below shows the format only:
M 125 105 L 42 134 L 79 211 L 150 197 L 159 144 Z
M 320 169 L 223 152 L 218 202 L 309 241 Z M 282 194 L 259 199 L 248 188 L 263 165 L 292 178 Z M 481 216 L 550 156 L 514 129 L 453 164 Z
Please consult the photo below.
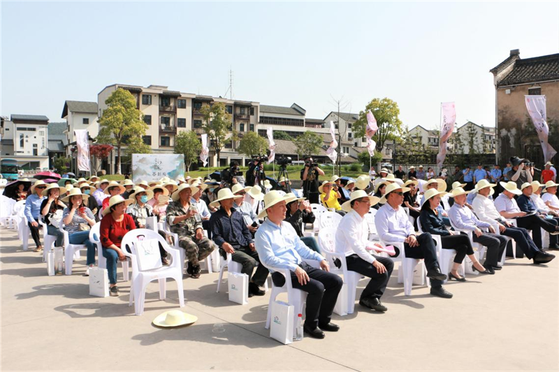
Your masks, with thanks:
M 270 269 L 274 285 L 282 287 L 286 280 L 276 270 L 288 269 L 293 288 L 308 293 L 303 330 L 311 337 L 324 338 L 323 330 L 337 332 L 340 329 L 331 318 L 343 281 L 340 276 L 328 272 L 330 267 L 324 257 L 307 248 L 291 223 L 284 221 L 288 198 L 275 190 L 264 197 L 264 210 L 258 217 L 268 219 L 256 232 L 256 251 L 263 265 Z M 321 269 L 310 266 L 303 259 L 319 261 Z

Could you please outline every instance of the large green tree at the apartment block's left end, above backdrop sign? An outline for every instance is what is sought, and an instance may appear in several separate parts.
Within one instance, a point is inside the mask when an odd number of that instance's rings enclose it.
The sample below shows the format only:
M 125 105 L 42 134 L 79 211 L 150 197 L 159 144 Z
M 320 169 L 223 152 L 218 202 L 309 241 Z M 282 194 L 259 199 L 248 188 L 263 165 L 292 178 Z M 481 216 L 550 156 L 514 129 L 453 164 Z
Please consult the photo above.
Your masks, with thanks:
M 98 143 L 114 144 L 117 147 L 118 168 L 121 174 L 122 146 L 137 144 L 138 138 L 147 131 L 147 124 L 143 121 L 143 114 L 136 108 L 136 98 L 122 88 L 112 92 L 105 101 L 107 110 L 99 118 Z

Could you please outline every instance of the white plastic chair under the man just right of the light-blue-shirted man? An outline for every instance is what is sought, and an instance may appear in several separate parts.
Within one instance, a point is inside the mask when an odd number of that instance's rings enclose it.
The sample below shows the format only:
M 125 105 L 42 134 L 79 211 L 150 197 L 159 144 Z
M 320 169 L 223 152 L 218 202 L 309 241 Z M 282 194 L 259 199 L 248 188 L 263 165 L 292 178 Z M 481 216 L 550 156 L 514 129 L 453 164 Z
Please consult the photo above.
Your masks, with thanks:
M 344 284 L 347 285 L 347 313 L 340 313 L 338 315 L 353 314 L 355 310 L 355 297 L 357 291 L 357 284 L 363 278 L 363 275 L 356 271 L 351 271 L 347 269 L 347 262 L 345 261 L 345 255 L 342 253 L 336 253 L 335 251 L 335 230 L 332 229 L 321 229 L 319 231 L 319 245 L 321 251 L 326 255 L 326 261 L 330 264 L 330 272 L 333 274 L 342 274 L 344 279 Z M 340 269 L 334 264 L 335 259 L 340 260 L 342 263 Z M 342 288 L 342 290 L 344 290 Z M 337 301 L 340 301 L 340 296 L 338 296 Z M 336 307 L 337 304 L 336 304 Z M 344 306 L 340 306 L 342 309 Z

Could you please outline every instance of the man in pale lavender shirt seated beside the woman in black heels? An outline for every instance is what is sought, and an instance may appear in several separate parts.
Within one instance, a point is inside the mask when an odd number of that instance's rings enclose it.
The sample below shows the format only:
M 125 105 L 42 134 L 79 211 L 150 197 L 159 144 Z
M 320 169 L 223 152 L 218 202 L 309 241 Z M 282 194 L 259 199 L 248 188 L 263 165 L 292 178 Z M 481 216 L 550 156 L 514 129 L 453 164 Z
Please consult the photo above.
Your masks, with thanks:
M 416 237 L 414 225 L 409 222 L 406 212 L 400 207 L 407 191 L 409 188 L 398 184 L 386 186 L 386 193 L 380 200 L 386 204 L 379 208 L 375 216 L 377 234 L 387 243 L 404 243 L 407 258 L 424 258 L 427 276 L 431 279 L 431 295 L 452 298 L 452 294 L 442 288 L 442 281 L 447 276 L 441 273 L 433 237 L 428 232 Z

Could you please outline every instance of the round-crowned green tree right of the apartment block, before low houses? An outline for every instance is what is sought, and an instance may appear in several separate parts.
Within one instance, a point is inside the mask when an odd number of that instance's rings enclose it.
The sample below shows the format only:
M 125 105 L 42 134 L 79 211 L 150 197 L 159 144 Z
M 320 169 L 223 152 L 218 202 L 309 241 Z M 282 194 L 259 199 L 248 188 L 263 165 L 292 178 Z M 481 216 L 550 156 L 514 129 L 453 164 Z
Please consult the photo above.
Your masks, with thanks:
M 377 151 L 384 149 L 384 143 L 387 140 L 396 140 L 404 134 L 402 121 L 398 117 L 400 108 L 398 103 L 390 98 L 374 98 L 365 106 L 365 110 L 359 112 L 359 119 L 353 124 L 354 137 L 365 137 L 365 128 L 367 127 L 367 112 L 371 110 L 377 119 L 379 130 L 373 137 L 377 142 Z

